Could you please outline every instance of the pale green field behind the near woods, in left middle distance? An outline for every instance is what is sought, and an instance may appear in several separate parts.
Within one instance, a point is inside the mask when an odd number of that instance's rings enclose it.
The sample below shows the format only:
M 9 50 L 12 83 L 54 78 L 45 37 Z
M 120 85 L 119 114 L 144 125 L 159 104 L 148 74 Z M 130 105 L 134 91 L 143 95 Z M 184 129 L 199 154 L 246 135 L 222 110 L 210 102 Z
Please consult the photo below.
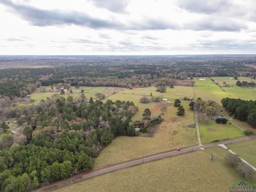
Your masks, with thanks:
M 96 93 L 103 93 L 108 97 L 109 95 L 113 94 L 114 92 L 119 92 L 124 90 L 125 88 L 122 87 L 86 87 L 86 86 L 80 86 L 79 88 L 76 88 L 74 86 L 71 87 L 71 90 L 73 90 L 73 93 L 66 93 L 62 95 L 63 97 L 68 97 L 68 95 L 73 96 L 73 98 L 79 98 L 81 93 L 77 91 L 84 90 L 84 94 L 86 98 L 95 98 Z M 44 90 L 44 91 L 43 91 Z M 39 102 L 41 99 L 46 99 L 47 97 L 51 98 L 54 94 L 60 95 L 60 92 L 50 92 L 51 87 L 50 86 L 41 86 L 32 94 L 30 94 L 31 99 L 34 99 L 35 102 Z

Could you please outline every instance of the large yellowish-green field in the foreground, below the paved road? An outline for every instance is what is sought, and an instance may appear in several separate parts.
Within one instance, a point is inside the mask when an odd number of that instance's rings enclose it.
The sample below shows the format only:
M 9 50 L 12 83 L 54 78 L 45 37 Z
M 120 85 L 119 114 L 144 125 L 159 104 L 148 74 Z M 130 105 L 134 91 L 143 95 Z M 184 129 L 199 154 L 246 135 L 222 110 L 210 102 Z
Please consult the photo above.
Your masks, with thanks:
M 213 160 L 211 151 L 217 155 Z M 228 191 L 228 186 L 243 179 L 226 164 L 227 154 L 220 147 L 197 150 L 103 174 L 55 191 Z M 256 183 L 256 178 L 250 181 Z

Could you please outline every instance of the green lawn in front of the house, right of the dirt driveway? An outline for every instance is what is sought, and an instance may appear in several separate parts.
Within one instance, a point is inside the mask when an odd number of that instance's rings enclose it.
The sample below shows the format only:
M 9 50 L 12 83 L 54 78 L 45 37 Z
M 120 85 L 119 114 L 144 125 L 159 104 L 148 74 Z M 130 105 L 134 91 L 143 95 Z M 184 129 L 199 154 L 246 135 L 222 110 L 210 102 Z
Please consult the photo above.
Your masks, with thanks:
M 234 139 L 243 137 L 243 131 L 239 130 L 233 124 L 217 124 L 215 121 L 211 120 L 210 123 L 200 123 L 199 124 L 200 136 L 202 143 L 207 144 L 215 140 L 223 139 Z

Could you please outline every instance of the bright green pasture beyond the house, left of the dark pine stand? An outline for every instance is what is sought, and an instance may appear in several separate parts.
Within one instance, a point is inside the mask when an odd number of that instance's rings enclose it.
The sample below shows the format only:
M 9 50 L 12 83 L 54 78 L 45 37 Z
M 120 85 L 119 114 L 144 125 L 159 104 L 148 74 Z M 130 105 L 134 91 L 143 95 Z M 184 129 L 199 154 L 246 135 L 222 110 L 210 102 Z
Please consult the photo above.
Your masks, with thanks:
M 210 78 L 202 77 L 201 79 L 205 79 L 205 81 L 199 80 L 199 78 L 193 79 L 195 81 L 194 90 L 196 98 L 199 97 L 206 101 L 213 100 L 219 104 L 221 104 L 223 98 L 230 98 L 230 95 L 212 82 Z

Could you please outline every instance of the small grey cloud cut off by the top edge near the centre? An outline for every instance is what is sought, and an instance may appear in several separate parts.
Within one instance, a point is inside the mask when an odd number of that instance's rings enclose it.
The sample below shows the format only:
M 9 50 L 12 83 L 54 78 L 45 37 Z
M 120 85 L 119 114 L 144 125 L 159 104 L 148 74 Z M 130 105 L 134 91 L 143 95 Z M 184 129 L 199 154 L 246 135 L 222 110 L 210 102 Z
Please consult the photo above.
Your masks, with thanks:
M 112 12 L 124 13 L 129 0 L 91 0 L 94 5 Z

